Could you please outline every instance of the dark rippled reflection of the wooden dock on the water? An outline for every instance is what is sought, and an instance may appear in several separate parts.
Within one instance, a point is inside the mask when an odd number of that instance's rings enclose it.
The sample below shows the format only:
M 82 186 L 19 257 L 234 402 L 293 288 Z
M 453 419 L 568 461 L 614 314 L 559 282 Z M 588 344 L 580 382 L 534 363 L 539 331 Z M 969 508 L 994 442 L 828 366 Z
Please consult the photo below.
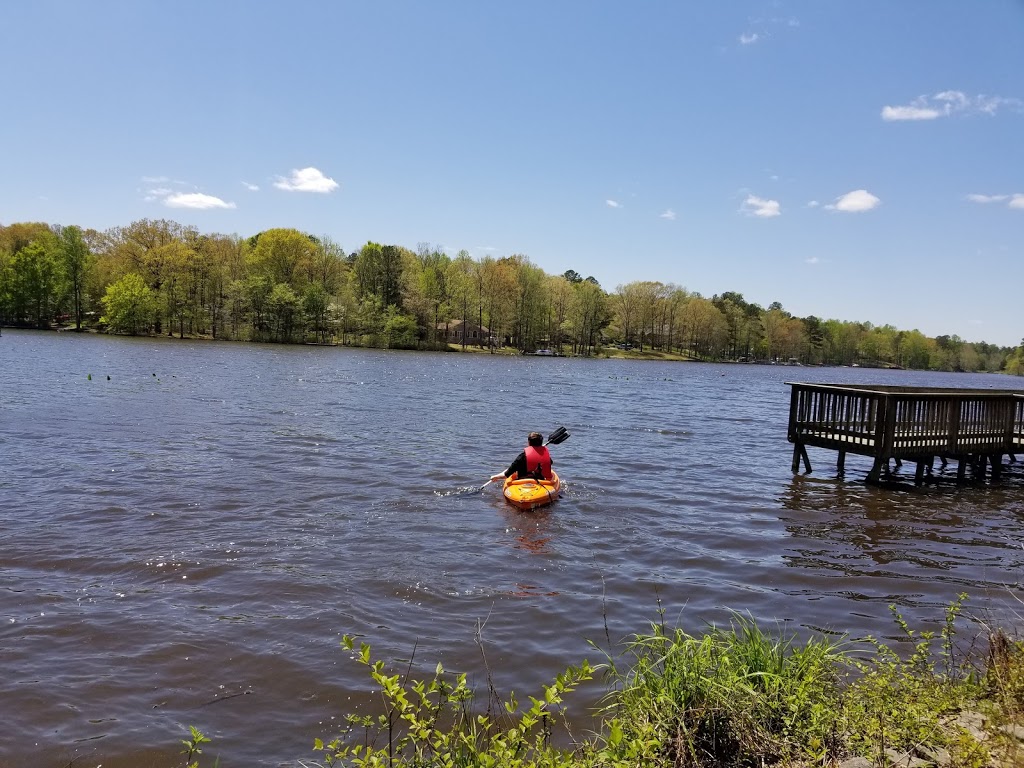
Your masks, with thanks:
M 936 605 L 958 591 L 1019 589 L 1024 528 L 1013 487 L 907 493 L 796 475 L 779 502 L 791 536 L 782 559 L 812 591 Z M 835 579 L 842 584 L 820 583 Z

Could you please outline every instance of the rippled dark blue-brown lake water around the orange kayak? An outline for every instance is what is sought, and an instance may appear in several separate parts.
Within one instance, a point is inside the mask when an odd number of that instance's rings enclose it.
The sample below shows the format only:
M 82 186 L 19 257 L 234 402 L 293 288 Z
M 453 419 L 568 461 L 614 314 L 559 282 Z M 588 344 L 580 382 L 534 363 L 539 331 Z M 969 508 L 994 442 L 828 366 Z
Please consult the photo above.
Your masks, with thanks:
M 907 493 L 810 449 L 794 475 L 786 381 L 1021 386 L 5 330 L 0 766 L 180 765 L 188 725 L 225 768 L 311 761 L 371 711 L 346 633 L 524 700 L 659 604 L 692 632 L 893 636 L 891 603 L 933 623 L 961 592 L 1012 615 L 1021 465 Z M 559 425 L 553 507 L 466 493 Z

